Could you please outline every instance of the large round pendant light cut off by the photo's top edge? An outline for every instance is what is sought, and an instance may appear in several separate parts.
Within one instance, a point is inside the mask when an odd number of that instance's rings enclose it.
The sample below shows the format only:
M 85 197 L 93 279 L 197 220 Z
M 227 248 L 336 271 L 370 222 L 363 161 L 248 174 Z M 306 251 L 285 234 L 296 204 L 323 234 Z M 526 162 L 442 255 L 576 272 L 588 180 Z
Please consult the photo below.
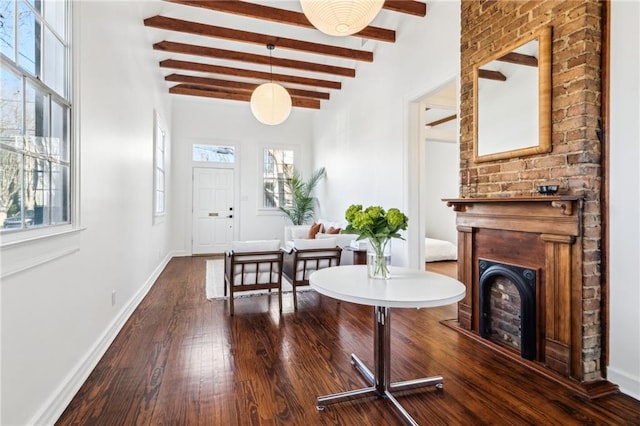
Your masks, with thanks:
M 355 34 L 373 21 L 384 0 L 300 0 L 305 16 L 318 30 L 333 36 Z

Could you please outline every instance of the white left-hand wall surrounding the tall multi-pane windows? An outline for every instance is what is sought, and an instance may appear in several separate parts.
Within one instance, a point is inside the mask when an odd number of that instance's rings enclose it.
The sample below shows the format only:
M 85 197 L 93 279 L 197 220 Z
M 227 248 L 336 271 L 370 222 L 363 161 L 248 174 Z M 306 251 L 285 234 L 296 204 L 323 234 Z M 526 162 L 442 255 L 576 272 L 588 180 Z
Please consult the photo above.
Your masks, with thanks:
M 154 110 L 171 110 L 140 3 L 73 6 L 83 230 L 2 249 L 3 425 L 57 419 L 170 257 L 152 159 Z

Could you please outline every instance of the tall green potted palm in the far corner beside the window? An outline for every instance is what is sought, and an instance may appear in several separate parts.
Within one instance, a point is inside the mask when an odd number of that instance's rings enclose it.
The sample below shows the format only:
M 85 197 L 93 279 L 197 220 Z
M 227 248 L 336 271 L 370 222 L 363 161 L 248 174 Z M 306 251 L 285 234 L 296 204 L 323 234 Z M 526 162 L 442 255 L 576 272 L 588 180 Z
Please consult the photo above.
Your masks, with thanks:
M 295 168 L 291 168 L 287 180 L 287 188 L 291 191 L 292 201 L 290 206 L 280 207 L 294 225 L 303 225 L 313 219 L 316 208 L 316 200 L 311 196 L 313 189 L 327 175 L 324 167 L 316 170 L 307 182 Z

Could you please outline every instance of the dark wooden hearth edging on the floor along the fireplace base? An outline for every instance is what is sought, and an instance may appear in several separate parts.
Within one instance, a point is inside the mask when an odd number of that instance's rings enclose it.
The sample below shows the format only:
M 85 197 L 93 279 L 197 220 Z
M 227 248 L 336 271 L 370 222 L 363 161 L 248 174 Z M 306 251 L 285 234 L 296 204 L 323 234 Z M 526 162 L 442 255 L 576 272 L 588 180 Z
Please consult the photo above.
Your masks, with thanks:
M 583 398 L 595 399 L 595 398 L 600 398 L 606 395 L 611 395 L 611 394 L 620 392 L 617 385 L 607 380 L 597 380 L 594 382 L 578 382 L 577 380 L 572 379 L 570 377 L 562 376 L 556 373 L 555 371 L 552 371 L 546 368 L 542 364 L 523 359 L 519 355 L 515 355 L 512 351 L 506 350 L 500 347 L 499 345 L 496 345 L 490 342 L 489 340 L 479 336 L 478 334 L 473 333 L 470 330 L 467 330 L 465 328 L 462 328 L 460 326 L 460 323 L 458 323 L 457 320 L 444 320 L 444 321 L 440 321 L 440 323 L 456 330 L 457 332 L 461 333 L 464 336 L 469 337 L 470 339 L 473 339 L 474 341 L 482 344 L 483 346 L 493 349 L 494 351 L 504 355 L 507 358 L 512 359 L 518 364 L 523 365 L 524 367 L 527 367 L 533 371 L 540 373 L 540 375 L 548 379 L 551 379 L 554 382 L 574 391 L 575 393 L 577 393 Z

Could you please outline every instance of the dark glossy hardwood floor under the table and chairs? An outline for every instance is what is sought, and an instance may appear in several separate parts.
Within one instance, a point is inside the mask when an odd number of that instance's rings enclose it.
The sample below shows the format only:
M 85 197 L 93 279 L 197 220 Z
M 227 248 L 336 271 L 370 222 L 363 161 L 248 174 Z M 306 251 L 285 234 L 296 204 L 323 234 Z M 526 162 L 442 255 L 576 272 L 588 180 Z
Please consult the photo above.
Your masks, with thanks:
M 400 425 L 383 399 L 315 408 L 366 385 L 372 308 L 300 293 L 205 298 L 205 257 L 174 258 L 59 419 L 59 425 Z M 427 269 L 429 267 L 427 266 Z M 455 269 L 454 269 L 455 270 Z M 392 283 L 390 283 L 392 285 Z M 421 425 L 639 425 L 640 402 L 584 400 L 444 326 L 455 306 L 395 309 L 391 379 L 442 374 L 444 391 L 399 400 Z

